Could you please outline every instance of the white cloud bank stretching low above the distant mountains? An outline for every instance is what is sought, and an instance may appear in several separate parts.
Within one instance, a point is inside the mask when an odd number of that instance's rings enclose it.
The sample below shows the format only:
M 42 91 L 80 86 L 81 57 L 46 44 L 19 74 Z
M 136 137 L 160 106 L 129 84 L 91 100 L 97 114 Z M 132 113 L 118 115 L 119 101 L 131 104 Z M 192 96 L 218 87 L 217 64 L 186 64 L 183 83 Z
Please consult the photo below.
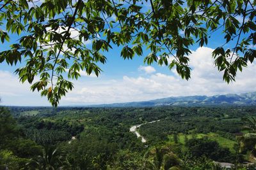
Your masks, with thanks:
M 190 66 L 193 68 L 191 79 L 182 80 L 175 70 L 158 73 L 151 66 L 141 66 L 141 71 L 150 74 L 140 76 L 123 76 L 121 79 L 106 79 L 83 77 L 78 81 L 73 81 L 75 89 L 61 99 L 62 105 L 72 104 L 100 104 L 100 103 L 122 103 L 129 101 L 146 101 L 170 96 L 193 96 L 193 95 L 215 95 L 227 93 L 243 93 L 256 91 L 256 65 L 249 64 L 243 69 L 243 73 L 237 73 L 236 81 L 227 84 L 222 80 L 223 73 L 214 67 L 214 60 L 211 57 L 213 49 L 202 47 L 189 55 Z M 150 68 L 150 69 L 148 69 Z M 147 70 L 147 71 L 146 71 Z M 28 98 L 35 94 L 28 92 L 29 87 L 20 85 L 17 78 L 10 73 L 0 72 L 0 96 L 24 95 Z M 14 79 L 13 79 L 14 78 Z M 2 83 L 4 81 L 11 83 Z M 11 84 L 11 87 L 10 87 Z M 13 86 L 13 87 L 12 87 Z M 13 89 L 13 90 L 10 90 Z M 20 90 L 18 90 L 20 89 Z M 29 94 L 29 96 L 26 96 Z M 3 97 L 3 100 L 4 100 Z M 36 99 L 35 99 L 36 98 Z M 46 101 L 47 99 L 45 99 Z M 17 103 L 16 105 L 19 105 Z M 29 105 L 29 104 L 28 104 Z

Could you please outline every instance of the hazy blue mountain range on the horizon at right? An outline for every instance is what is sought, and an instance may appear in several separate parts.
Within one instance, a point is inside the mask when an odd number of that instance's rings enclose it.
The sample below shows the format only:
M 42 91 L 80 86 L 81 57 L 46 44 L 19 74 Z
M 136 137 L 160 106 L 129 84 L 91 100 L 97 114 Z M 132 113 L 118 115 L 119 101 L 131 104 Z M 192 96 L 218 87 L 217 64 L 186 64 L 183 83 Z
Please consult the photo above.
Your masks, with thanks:
M 167 97 L 152 101 L 93 105 L 97 107 L 256 105 L 256 92 L 216 96 Z

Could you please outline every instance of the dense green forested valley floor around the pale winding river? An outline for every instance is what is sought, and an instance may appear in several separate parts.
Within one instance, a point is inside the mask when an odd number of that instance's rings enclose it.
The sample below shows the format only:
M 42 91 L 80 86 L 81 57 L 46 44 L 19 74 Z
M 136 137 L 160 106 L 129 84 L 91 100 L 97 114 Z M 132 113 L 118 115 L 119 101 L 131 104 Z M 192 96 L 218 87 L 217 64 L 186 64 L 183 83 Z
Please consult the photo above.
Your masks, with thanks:
M 255 113 L 254 106 L 1 108 L 0 169 L 255 169 Z

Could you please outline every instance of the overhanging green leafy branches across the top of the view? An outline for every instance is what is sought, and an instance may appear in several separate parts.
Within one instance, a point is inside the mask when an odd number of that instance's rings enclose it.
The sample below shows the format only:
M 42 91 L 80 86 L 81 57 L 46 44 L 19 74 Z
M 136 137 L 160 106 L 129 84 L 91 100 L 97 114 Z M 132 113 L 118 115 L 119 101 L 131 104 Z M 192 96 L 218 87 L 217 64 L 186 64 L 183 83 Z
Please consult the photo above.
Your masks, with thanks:
M 256 56 L 255 4 L 250 0 L 1 0 L 1 43 L 13 34 L 19 39 L 12 39 L 10 48 L 0 52 L 0 62 L 12 66 L 24 60 L 25 66 L 15 71 L 20 81 L 31 83 L 31 90 L 57 106 L 61 96 L 74 88 L 70 80 L 79 78 L 81 70 L 98 76 L 99 64 L 107 59 L 103 53 L 115 46 L 122 47 L 124 59 L 143 55 L 146 64 L 175 67 L 188 80 L 191 46 L 207 45 L 214 32 L 222 31 L 225 43 L 212 57 L 223 71 L 223 80 L 230 82 Z M 232 48 L 225 48 L 227 44 Z M 145 54 L 145 47 L 150 53 Z

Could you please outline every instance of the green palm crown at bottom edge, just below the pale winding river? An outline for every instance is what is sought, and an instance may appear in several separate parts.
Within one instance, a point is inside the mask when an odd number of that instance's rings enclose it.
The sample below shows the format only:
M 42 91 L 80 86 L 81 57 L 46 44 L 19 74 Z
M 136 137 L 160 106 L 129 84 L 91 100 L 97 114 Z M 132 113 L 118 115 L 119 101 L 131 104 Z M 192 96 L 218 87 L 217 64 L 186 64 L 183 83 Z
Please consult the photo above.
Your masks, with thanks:
M 144 168 L 150 170 L 178 170 L 181 165 L 181 160 L 168 148 L 155 148 L 146 153 L 144 159 Z

